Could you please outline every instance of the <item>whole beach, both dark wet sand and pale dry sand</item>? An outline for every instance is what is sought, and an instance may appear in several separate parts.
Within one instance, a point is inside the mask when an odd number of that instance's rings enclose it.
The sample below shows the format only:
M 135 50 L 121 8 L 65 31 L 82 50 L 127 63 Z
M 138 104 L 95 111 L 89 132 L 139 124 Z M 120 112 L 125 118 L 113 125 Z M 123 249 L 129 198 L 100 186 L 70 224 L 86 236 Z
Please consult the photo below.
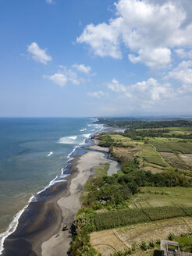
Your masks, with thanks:
M 69 176 L 42 192 L 41 201 L 31 202 L 21 215 L 14 233 L 4 243 L 3 256 L 63 256 L 72 240 L 71 226 L 80 209 L 80 194 L 94 168 L 108 162 L 117 169 L 116 162 L 106 158 L 107 148 L 92 145 L 83 155 L 74 156 Z

